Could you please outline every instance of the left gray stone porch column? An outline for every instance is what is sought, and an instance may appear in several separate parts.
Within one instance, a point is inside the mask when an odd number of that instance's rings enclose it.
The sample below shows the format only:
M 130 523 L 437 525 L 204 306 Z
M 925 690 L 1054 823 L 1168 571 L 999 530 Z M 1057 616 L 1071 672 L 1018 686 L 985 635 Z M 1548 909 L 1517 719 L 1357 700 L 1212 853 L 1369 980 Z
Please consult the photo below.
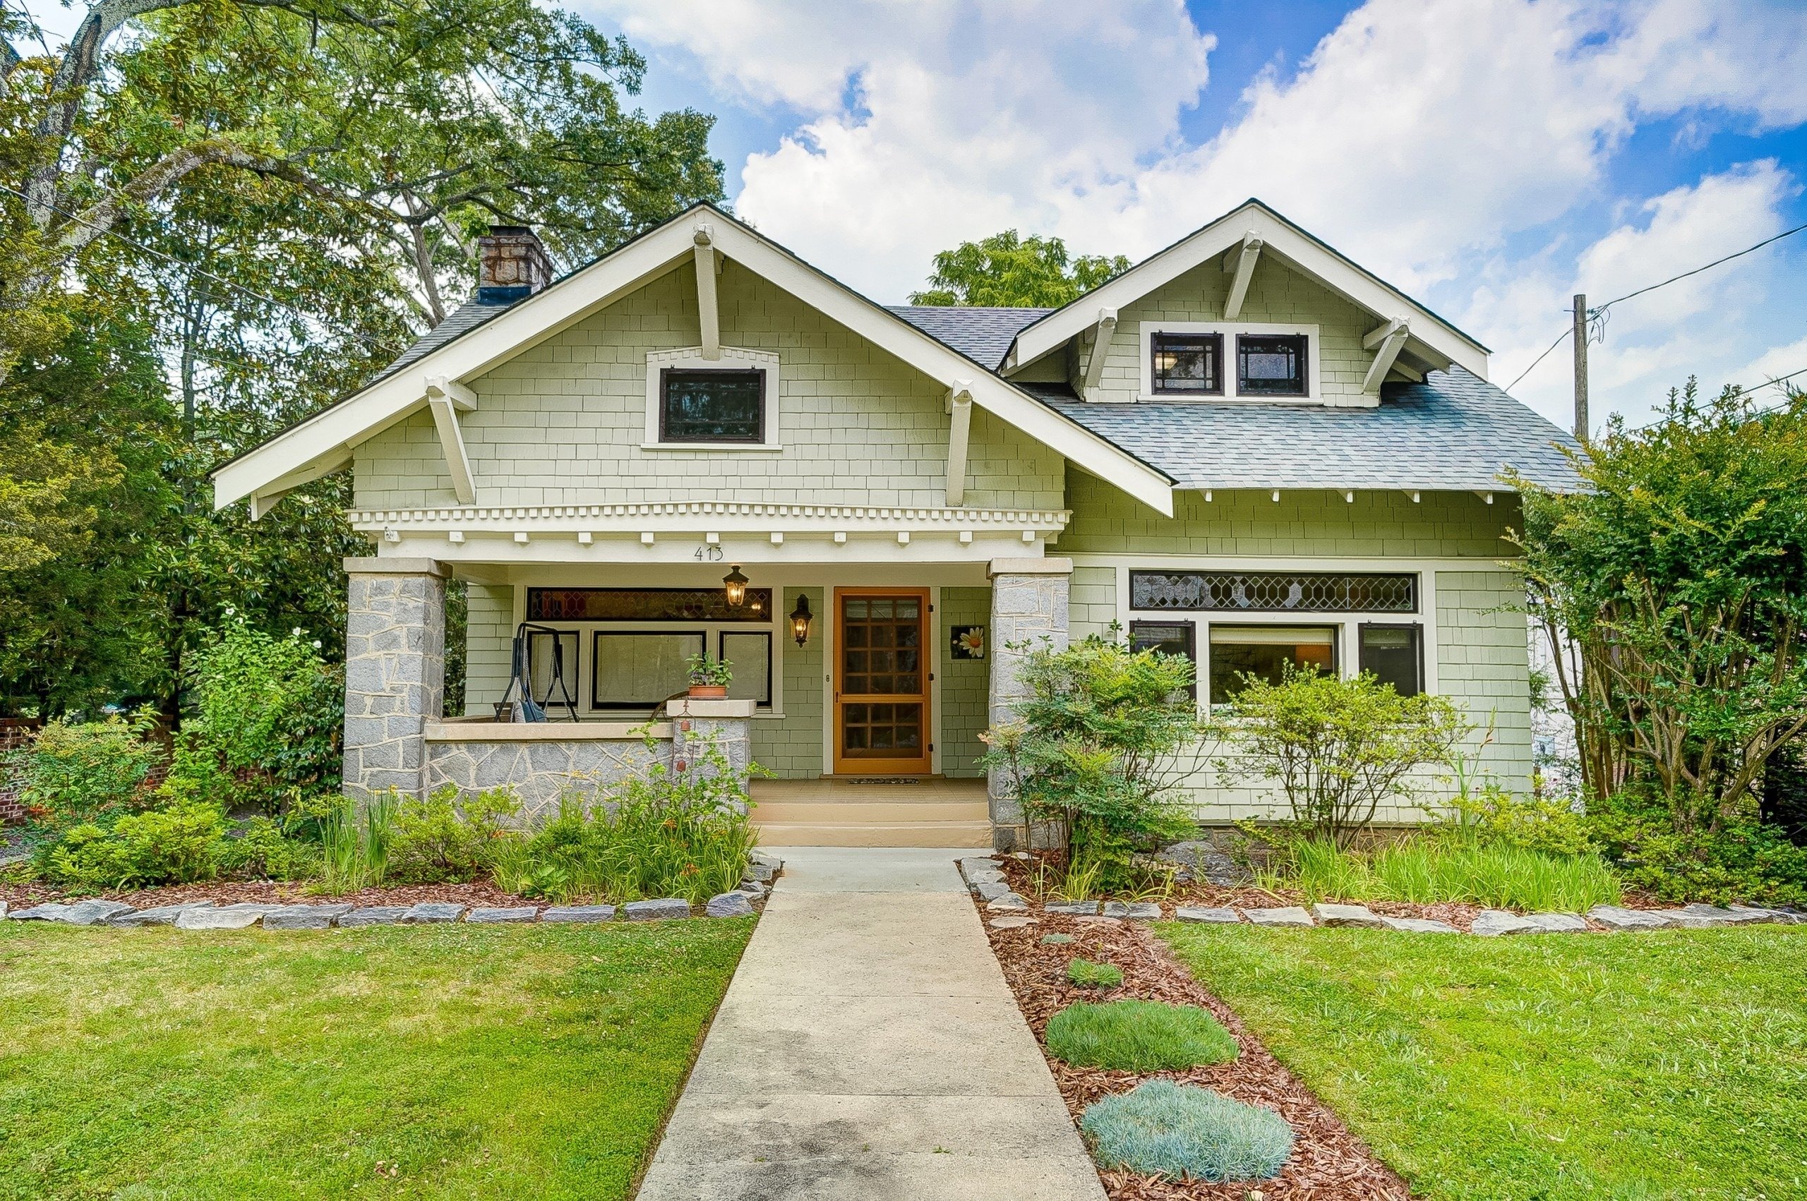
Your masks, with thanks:
M 421 795 L 446 686 L 446 576 L 432 558 L 345 560 L 345 795 Z

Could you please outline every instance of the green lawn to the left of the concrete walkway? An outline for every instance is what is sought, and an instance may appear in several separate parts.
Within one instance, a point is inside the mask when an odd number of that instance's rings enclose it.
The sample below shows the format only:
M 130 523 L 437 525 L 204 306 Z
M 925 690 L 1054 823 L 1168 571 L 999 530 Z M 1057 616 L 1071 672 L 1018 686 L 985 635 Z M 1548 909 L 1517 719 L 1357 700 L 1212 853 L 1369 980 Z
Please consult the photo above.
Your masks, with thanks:
M 750 934 L 0 923 L 0 1197 L 625 1197 Z

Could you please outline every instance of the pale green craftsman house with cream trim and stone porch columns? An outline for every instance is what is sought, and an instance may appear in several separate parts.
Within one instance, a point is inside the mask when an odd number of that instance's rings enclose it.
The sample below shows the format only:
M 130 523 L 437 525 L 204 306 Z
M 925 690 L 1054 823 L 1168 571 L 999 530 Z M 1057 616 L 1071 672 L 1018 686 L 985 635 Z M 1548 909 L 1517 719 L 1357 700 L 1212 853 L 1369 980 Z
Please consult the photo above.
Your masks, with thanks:
M 495 228 L 470 303 L 215 486 L 262 515 L 354 473 L 351 793 L 511 784 L 531 813 L 708 742 L 773 773 L 768 843 L 1010 847 L 979 768 L 1010 645 L 1113 625 L 1191 656 L 1202 706 L 1288 661 L 1449 695 L 1525 789 L 1502 473 L 1568 486 L 1565 441 L 1256 200 L 1053 311 L 885 307 L 698 206 L 560 280 Z M 726 697 L 676 695 L 696 654 Z

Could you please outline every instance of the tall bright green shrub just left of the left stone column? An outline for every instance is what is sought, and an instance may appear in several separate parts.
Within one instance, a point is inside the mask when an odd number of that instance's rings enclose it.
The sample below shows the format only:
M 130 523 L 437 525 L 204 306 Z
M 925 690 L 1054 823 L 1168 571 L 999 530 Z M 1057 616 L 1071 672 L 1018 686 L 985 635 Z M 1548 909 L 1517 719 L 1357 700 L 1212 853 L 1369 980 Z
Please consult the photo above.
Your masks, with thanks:
M 338 787 L 343 674 L 300 630 L 229 625 L 195 654 L 188 686 L 188 744 L 233 773 L 248 800 L 275 807 L 291 789 Z

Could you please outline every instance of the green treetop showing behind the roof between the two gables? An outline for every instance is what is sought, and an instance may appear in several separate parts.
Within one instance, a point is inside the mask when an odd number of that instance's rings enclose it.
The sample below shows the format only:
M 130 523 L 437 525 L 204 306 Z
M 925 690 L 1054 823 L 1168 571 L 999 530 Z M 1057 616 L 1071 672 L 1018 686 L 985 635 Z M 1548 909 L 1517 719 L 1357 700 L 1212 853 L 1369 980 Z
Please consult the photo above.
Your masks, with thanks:
M 913 305 L 1059 309 L 1129 269 L 1122 255 L 1070 258 L 1061 238 L 1017 237 L 1016 229 L 961 242 L 934 256 L 929 289 Z

